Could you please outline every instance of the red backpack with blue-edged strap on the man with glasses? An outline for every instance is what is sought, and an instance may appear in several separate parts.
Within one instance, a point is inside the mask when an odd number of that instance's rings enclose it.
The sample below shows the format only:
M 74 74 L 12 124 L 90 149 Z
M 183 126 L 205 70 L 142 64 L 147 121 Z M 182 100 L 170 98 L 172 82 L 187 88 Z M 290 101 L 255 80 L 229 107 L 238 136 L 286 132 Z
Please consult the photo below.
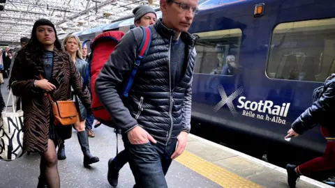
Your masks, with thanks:
M 128 97 L 128 92 L 130 91 L 131 84 L 133 84 L 133 79 L 135 77 L 138 66 L 141 63 L 142 58 L 147 54 L 147 51 L 151 42 L 151 31 L 148 28 L 142 27 L 144 36 L 142 39 L 142 43 L 140 48 L 137 50 L 137 60 L 133 64 L 133 70 L 131 75 L 128 77 L 126 82 L 126 86 L 124 86 L 124 90 L 120 94 L 120 97 Z M 94 84 L 96 83 L 96 78 L 98 77 L 101 68 L 105 62 L 107 62 L 110 54 L 114 51 L 115 47 L 118 45 L 119 40 L 124 36 L 122 31 L 107 31 L 105 33 L 101 33 L 100 35 L 94 38 L 94 41 L 91 43 L 91 56 L 89 57 L 89 75 L 91 77 L 91 97 L 92 97 L 92 112 L 94 118 L 100 121 L 104 125 L 109 127 L 114 127 L 114 123 L 112 123 L 112 117 L 105 110 L 103 104 L 101 104 L 100 100 L 96 96 L 96 92 L 94 91 Z

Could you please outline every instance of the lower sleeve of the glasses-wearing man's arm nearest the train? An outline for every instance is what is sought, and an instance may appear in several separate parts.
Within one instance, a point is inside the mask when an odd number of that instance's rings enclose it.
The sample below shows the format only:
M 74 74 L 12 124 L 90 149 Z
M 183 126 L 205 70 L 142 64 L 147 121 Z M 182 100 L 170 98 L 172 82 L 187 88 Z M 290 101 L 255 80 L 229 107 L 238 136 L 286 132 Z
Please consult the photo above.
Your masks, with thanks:
M 186 88 L 184 102 L 183 102 L 183 127 L 181 130 L 185 132 L 190 132 L 191 130 L 191 107 L 192 107 L 192 81 L 193 77 L 191 78 L 190 83 L 188 83 L 188 87 Z

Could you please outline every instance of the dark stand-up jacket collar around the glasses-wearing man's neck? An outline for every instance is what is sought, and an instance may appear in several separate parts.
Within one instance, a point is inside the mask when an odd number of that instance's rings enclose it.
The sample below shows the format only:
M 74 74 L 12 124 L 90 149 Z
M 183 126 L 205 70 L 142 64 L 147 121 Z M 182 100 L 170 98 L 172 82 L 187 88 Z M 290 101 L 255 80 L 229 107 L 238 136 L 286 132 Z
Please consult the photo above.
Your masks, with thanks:
M 172 29 L 168 29 L 164 24 L 163 24 L 163 19 L 157 19 L 156 24 L 154 24 L 154 28 L 156 29 L 157 33 L 161 35 L 163 38 L 168 38 L 170 39 L 171 37 L 174 36 L 174 33 L 176 31 L 173 31 Z M 196 36 L 193 36 L 191 33 L 188 32 L 182 32 L 181 33 L 181 38 L 184 39 L 184 42 L 186 44 L 193 46 L 195 44 L 195 40 L 197 39 Z

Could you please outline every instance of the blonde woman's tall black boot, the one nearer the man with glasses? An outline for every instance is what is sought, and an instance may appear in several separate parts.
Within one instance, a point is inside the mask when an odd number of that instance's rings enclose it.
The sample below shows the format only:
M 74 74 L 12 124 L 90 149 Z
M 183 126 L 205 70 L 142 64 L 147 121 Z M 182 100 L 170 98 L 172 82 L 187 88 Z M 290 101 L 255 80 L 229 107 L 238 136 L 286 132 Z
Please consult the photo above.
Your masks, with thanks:
M 87 136 L 87 131 L 83 130 L 81 132 L 77 132 L 78 141 L 80 147 L 82 148 L 82 153 L 84 154 L 84 166 L 87 167 L 89 164 L 99 162 L 98 157 L 94 157 L 89 152 L 89 136 Z

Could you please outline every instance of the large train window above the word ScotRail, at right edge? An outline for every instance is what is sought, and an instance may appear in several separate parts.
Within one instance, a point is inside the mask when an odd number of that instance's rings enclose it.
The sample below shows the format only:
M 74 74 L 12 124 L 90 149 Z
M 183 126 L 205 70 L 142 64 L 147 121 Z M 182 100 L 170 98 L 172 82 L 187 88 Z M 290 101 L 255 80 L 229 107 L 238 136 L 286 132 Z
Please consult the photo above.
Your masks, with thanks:
M 278 24 L 266 72 L 274 79 L 325 81 L 335 72 L 335 18 Z

